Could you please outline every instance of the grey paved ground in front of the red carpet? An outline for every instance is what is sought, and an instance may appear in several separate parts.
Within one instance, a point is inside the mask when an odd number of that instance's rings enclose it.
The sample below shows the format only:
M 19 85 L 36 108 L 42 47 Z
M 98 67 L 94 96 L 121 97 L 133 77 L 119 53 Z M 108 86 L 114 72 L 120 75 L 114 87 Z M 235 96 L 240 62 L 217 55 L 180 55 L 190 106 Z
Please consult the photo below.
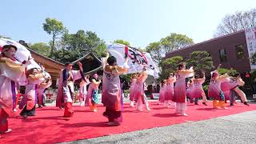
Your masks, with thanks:
M 256 110 L 205 121 L 186 122 L 66 143 L 256 143 Z

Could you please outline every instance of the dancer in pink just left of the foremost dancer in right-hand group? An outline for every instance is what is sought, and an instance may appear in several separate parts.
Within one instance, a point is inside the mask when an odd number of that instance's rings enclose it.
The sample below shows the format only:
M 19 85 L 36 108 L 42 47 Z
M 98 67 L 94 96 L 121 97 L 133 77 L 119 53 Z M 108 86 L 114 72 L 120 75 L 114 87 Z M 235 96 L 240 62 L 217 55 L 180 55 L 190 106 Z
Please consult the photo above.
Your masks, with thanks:
M 175 107 L 176 105 L 172 103 L 172 100 L 174 99 L 174 82 L 176 82 L 176 77 L 173 73 L 170 73 L 166 81 L 165 106 L 170 107 L 170 105 L 172 105 Z

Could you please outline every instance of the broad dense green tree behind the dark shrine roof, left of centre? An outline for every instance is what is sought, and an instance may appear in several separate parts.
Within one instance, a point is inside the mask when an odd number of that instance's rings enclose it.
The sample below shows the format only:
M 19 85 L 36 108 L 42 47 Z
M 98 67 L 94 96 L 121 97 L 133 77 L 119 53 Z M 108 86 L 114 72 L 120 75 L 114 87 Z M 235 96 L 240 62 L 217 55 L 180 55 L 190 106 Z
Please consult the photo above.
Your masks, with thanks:
M 54 54 L 54 59 L 60 62 L 73 62 L 89 52 L 98 58 L 106 54 L 105 43 L 92 31 L 78 30 L 75 34 L 63 34 L 58 44 L 61 48 Z

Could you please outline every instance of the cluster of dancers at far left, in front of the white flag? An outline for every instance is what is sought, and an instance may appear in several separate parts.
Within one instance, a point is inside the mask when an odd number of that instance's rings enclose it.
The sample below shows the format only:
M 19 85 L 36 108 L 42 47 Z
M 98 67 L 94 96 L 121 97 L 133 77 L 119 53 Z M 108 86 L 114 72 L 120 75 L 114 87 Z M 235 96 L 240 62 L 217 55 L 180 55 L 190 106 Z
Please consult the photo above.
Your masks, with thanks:
M 44 71 L 43 66 L 27 69 L 30 59 L 18 62 L 14 58 L 17 47 L 13 45 L 2 46 L 0 54 L 0 134 L 8 133 L 8 117 L 15 116 L 18 104 L 19 86 L 26 86 L 25 97 L 19 103 L 23 118 L 35 115 L 35 104 L 43 104 L 43 92 L 51 85 L 50 74 Z

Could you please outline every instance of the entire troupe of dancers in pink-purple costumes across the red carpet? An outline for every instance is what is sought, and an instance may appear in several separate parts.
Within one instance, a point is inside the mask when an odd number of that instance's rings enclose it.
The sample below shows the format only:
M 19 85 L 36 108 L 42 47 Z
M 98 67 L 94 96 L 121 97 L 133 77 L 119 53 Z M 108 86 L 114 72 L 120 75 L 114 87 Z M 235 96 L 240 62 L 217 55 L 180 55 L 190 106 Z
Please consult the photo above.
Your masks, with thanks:
M 8 129 L 7 118 L 14 116 L 14 106 L 20 82 L 26 86 L 25 97 L 19 104 L 22 109 L 20 115 L 23 118 L 35 115 L 35 106 L 42 105 L 43 91 L 51 85 L 50 76 L 46 74 L 43 67 L 41 69 L 31 68 L 27 69 L 27 62 L 18 62 L 15 58 L 17 48 L 12 45 L 2 47 L 2 54 L 0 59 L 0 134 L 10 132 Z M 108 125 L 118 126 L 122 122 L 122 84 L 119 76 L 126 74 L 129 70 L 128 58 L 122 66 L 117 65 L 117 59 L 107 53 L 106 58 L 102 62 L 103 77 L 102 81 L 98 80 L 98 75 L 94 74 L 93 78 L 84 75 L 82 70 L 82 63 L 78 62 L 79 70 L 73 70 L 73 64 L 67 62 L 65 68 L 61 70 L 58 79 L 58 94 L 56 99 L 56 106 L 64 109 L 64 117 L 71 117 L 74 114 L 72 105 L 74 102 L 74 82 L 81 79 L 79 89 L 79 100 L 81 106 L 90 106 L 90 110 L 97 111 L 98 87 L 102 83 L 102 104 L 106 106 L 103 116 L 108 118 Z M 150 110 L 149 102 L 147 102 L 145 90 L 145 81 L 148 77 L 147 67 L 144 66 L 140 74 L 134 74 L 130 86 L 130 106 L 139 111 Z M 186 78 L 193 77 L 190 82 L 186 84 Z M 159 102 L 164 102 L 166 106 L 172 103 L 175 107 L 175 113 L 186 116 L 186 97 L 202 98 L 203 104 L 206 105 L 206 94 L 202 89 L 202 83 L 205 81 L 205 75 L 200 78 L 194 74 L 193 67 L 186 69 L 186 63 L 180 63 L 175 74 L 170 74 L 166 80 L 162 82 L 160 90 Z M 225 100 L 230 98 L 230 105 L 234 105 L 235 94 L 237 94 L 248 105 L 246 95 L 238 88 L 244 82 L 242 78 L 230 77 L 226 74 L 219 75 L 215 70 L 211 73 L 210 86 L 208 96 L 213 98 L 214 108 L 226 109 Z M 89 89 L 87 90 L 87 86 Z M 37 99 L 38 98 L 38 99 Z M 175 102 L 175 103 L 174 103 Z M 196 103 L 197 104 L 197 103 Z

